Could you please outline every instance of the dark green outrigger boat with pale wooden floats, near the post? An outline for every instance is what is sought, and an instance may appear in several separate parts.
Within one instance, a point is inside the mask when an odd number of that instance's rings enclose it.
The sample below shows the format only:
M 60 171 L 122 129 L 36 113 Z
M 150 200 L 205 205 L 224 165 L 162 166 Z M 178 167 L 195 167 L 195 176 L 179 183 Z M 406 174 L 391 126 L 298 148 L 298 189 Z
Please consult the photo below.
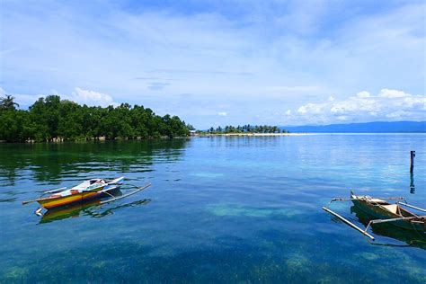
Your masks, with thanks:
M 404 200 L 404 202 L 396 201 L 394 204 L 388 203 L 386 200 Z M 371 216 L 368 225 L 365 229 L 353 224 L 350 220 L 336 212 L 323 207 L 324 211 L 339 218 L 347 225 L 359 231 L 361 234 L 368 236 L 371 240 L 375 240 L 373 235 L 368 233 L 368 228 L 375 224 L 388 223 L 393 226 L 398 226 L 406 230 L 412 230 L 421 235 L 426 234 L 426 215 L 417 215 L 408 209 L 415 209 L 421 212 L 426 212 L 426 209 L 421 209 L 408 204 L 404 197 L 388 197 L 388 198 L 372 198 L 368 195 L 355 195 L 351 191 L 351 198 L 334 198 L 328 204 L 334 201 L 352 201 L 353 205 L 361 211 Z M 408 208 L 408 209 L 406 209 Z

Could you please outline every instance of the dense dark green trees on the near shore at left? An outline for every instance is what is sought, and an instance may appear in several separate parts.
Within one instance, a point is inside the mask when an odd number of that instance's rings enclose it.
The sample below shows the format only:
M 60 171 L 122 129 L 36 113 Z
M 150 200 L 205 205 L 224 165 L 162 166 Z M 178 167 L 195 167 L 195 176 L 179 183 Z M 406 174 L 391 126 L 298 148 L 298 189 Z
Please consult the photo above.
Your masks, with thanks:
M 28 111 L 17 110 L 15 105 L 11 96 L 0 101 L 0 140 L 173 138 L 188 136 L 191 128 L 177 116 L 161 117 L 151 109 L 132 107 L 129 103 L 118 107 L 89 107 L 49 95 L 34 102 Z

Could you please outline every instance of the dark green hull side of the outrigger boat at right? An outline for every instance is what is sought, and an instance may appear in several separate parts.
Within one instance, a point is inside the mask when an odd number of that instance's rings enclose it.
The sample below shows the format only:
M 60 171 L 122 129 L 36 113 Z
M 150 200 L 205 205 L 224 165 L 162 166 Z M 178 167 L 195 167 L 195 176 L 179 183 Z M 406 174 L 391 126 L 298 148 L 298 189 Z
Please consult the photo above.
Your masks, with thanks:
M 401 217 L 400 215 L 394 214 L 386 209 L 382 209 L 379 206 L 375 206 L 364 200 L 352 199 L 351 201 L 356 208 L 360 209 L 361 211 L 363 211 L 364 213 L 372 217 L 371 219 L 391 219 L 391 218 Z M 424 222 L 416 223 L 410 220 L 399 220 L 399 221 L 391 222 L 389 224 L 393 226 L 398 226 L 407 230 L 415 230 L 422 233 L 426 232 L 426 226 Z

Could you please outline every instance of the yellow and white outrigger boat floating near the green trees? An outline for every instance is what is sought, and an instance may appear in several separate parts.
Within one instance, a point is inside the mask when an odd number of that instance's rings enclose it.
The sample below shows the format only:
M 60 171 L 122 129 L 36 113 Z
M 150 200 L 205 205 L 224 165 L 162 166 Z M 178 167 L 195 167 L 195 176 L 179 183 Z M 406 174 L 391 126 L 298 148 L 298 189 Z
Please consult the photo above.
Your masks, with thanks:
M 63 187 L 56 190 L 44 191 L 38 199 L 22 201 L 22 205 L 31 202 L 38 202 L 40 206 L 44 209 L 57 209 L 59 207 L 64 207 L 70 204 L 84 202 L 86 200 L 99 199 L 105 196 L 111 197 L 109 200 L 102 200 L 100 202 L 100 204 L 104 204 L 129 197 L 130 195 L 136 194 L 139 191 L 145 190 L 151 185 L 150 183 L 148 183 L 143 187 L 138 187 L 130 184 L 130 186 L 136 188 L 134 191 L 130 191 L 129 193 L 123 194 L 119 197 L 112 195 L 111 191 L 119 190 L 120 185 L 123 184 L 123 181 L 124 177 L 120 177 L 111 181 L 107 181 L 104 179 L 91 179 L 82 182 L 70 189 L 67 189 L 67 187 Z M 48 194 L 50 195 L 45 197 L 45 195 Z M 38 209 L 36 213 L 40 213 L 40 210 L 41 209 Z

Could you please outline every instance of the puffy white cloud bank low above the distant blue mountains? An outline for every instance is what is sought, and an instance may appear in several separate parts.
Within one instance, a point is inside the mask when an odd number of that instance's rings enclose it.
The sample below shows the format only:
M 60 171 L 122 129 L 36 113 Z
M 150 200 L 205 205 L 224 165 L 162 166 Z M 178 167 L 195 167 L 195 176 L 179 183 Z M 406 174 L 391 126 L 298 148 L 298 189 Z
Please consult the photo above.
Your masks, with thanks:
M 344 100 L 306 103 L 290 118 L 297 124 L 425 119 L 426 96 L 390 89 L 382 89 L 376 96 L 362 91 Z

